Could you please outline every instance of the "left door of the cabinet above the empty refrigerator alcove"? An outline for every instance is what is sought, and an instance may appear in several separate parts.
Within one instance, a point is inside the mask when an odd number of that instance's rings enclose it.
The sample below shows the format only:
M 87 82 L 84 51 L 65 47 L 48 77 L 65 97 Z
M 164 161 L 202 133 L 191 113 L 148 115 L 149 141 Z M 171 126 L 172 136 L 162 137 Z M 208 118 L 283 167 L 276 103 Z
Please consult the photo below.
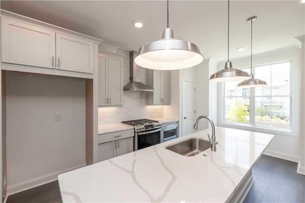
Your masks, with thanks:
M 55 32 L 2 17 L 1 43 L 2 62 L 55 68 Z

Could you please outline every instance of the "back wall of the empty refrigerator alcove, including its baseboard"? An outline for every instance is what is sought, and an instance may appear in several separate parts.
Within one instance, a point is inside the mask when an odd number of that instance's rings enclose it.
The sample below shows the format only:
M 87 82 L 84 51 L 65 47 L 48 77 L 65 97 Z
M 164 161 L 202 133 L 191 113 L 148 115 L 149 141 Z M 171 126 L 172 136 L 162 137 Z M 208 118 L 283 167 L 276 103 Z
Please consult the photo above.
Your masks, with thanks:
M 6 98 L 8 193 L 85 165 L 84 79 L 6 71 Z

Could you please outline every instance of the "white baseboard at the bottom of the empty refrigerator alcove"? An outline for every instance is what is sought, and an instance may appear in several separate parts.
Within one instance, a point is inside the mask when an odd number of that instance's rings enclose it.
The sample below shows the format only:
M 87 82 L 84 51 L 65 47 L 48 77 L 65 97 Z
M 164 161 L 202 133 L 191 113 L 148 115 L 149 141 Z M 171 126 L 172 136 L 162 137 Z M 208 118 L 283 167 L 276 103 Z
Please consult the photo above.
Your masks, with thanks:
M 51 174 L 48 174 L 46 176 L 41 176 L 41 177 L 38 177 L 38 178 L 35 178 L 35 179 L 32 179 L 32 180 L 28 180 L 28 181 L 25 181 L 23 183 L 18 183 L 18 184 L 9 186 L 9 187 L 7 187 L 7 196 L 12 195 L 12 194 L 16 194 L 16 193 L 21 192 L 21 191 L 28 190 L 28 189 L 33 188 L 33 187 L 43 185 L 43 184 L 46 184 L 46 183 L 50 183 L 52 181 L 57 180 L 57 176 L 59 174 L 66 173 L 68 171 L 72 171 L 74 169 L 78 169 L 78 168 L 81 168 L 81 167 L 84 167 L 84 166 L 86 166 L 86 164 L 82 164 L 82 165 L 75 166 L 75 167 L 72 167 L 72 168 L 69 168 L 69 169 L 58 171 L 56 173 L 51 173 Z

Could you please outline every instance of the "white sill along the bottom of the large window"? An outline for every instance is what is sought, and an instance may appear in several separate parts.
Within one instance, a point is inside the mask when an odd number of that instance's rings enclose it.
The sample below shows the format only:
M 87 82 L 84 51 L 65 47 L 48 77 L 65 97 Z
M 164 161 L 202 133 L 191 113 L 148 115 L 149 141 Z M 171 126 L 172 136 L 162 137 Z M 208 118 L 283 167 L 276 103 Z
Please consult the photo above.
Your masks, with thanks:
M 251 130 L 259 133 L 268 133 L 268 134 L 280 134 L 280 135 L 289 135 L 289 136 L 295 136 L 295 134 L 292 133 L 291 130 L 275 130 L 275 129 L 269 129 L 269 128 L 263 128 L 263 127 L 257 127 L 257 126 L 247 126 L 247 125 L 239 125 L 239 124 L 233 124 L 233 123 L 221 123 L 219 125 L 220 127 L 230 127 L 230 128 L 236 128 L 240 130 Z

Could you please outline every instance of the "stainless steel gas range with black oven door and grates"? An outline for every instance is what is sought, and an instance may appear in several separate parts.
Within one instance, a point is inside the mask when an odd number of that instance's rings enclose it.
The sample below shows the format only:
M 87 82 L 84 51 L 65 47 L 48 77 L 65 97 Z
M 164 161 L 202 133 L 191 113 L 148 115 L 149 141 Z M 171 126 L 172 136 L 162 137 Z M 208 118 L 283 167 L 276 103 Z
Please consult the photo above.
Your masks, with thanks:
M 134 151 L 161 143 L 162 125 L 159 121 L 138 119 L 122 123 L 135 128 Z

